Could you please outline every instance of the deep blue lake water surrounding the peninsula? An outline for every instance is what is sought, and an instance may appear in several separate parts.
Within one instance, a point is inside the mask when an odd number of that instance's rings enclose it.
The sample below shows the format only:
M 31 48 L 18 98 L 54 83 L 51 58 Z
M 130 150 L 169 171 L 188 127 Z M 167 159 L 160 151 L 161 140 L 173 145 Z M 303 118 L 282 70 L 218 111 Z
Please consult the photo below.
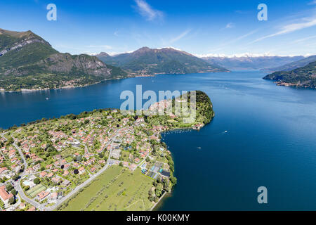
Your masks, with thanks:
M 2 93 L 0 127 L 119 108 L 121 91 L 137 84 L 143 91 L 198 89 L 211 98 L 216 117 L 201 131 L 163 135 L 178 184 L 159 210 L 316 210 L 316 91 L 276 86 L 264 75 L 159 75 Z M 268 188 L 268 204 L 258 204 L 259 186 Z

